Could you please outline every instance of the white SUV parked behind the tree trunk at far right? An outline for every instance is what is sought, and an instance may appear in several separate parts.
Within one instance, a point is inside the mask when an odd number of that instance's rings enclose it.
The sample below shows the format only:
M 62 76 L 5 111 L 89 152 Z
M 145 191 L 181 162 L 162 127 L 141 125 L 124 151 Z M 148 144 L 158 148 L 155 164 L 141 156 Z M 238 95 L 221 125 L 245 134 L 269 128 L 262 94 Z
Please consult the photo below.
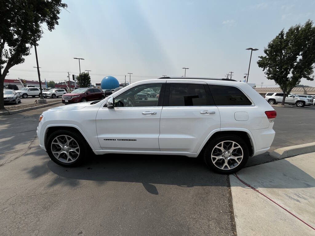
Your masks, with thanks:
M 265 95 L 265 100 L 269 104 L 277 104 L 277 103 L 282 103 L 283 99 L 283 93 L 266 93 Z M 287 97 L 285 98 L 286 104 L 293 104 L 296 105 L 297 107 L 304 107 L 305 105 L 313 105 L 313 99 L 311 98 L 302 98 L 294 93 L 289 93 Z

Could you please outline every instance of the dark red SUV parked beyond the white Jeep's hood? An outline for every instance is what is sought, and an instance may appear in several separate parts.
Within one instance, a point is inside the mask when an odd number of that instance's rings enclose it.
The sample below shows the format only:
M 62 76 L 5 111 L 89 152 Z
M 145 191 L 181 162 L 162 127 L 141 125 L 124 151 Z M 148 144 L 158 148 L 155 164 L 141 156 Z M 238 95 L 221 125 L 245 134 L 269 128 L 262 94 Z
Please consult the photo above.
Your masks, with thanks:
M 77 88 L 71 93 L 62 95 L 62 103 L 79 103 L 93 100 L 101 100 L 105 98 L 105 94 L 99 88 Z

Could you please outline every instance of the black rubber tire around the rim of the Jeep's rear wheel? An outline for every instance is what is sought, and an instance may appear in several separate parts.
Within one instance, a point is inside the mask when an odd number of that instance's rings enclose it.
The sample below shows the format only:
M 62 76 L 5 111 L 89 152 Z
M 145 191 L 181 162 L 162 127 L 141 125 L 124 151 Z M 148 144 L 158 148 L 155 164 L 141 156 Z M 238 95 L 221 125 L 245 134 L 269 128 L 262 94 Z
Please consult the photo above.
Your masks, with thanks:
M 243 153 L 243 158 L 241 160 L 239 160 L 240 163 L 236 167 L 233 167 L 232 169 L 224 169 L 224 168 L 221 169 L 221 168 L 219 168 L 218 166 L 216 166 L 213 163 L 212 158 L 211 158 L 212 151 L 215 151 L 215 146 L 218 145 L 221 142 L 224 142 L 224 141 L 226 141 L 227 143 L 228 143 L 228 141 L 233 141 L 233 142 L 237 143 L 241 147 L 241 149 L 238 149 L 238 150 L 242 151 L 242 153 Z M 226 152 L 227 152 L 227 150 L 226 150 Z M 229 155 L 229 154 L 227 154 L 227 155 Z M 215 163 L 220 163 L 220 161 L 222 161 L 222 160 L 226 161 L 225 159 L 227 159 L 227 161 L 229 161 L 228 160 L 229 157 L 221 158 L 221 154 L 218 155 L 218 157 L 219 156 L 220 156 L 221 160 L 218 159 L 217 162 L 215 162 Z M 215 138 L 210 140 L 210 142 L 207 144 L 207 147 L 204 149 L 204 152 L 203 152 L 203 160 L 207 164 L 207 166 L 212 171 L 215 171 L 215 172 L 220 173 L 220 174 L 232 174 L 232 173 L 235 173 L 235 172 L 241 170 L 245 166 L 245 164 L 246 164 L 246 162 L 248 160 L 248 157 L 249 157 L 249 151 L 248 151 L 247 144 L 245 143 L 245 141 L 242 138 L 240 138 L 240 137 L 238 137 L 236 135 L 233 135 L 233 134 L 224 135 L 224 136 L 222 136 L 222 135 L 216 136 Z M 232 160 L 233 159 L 231 159 L 229 161 L 229 163 L 232 163 Z M 234 164 L 236 164 L 236 162 Z

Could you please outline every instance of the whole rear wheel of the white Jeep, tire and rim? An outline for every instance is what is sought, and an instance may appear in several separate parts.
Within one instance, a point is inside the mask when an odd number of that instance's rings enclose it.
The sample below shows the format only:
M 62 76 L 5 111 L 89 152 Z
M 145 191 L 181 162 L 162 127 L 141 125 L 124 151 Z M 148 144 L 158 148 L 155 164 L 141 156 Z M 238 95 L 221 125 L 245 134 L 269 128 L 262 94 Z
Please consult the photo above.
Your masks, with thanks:
M 247 160 L 248 146 L 236 135 L 217 136 L 206 147 L 203 160 L 220 174 L 232 174 L 242 169 Z

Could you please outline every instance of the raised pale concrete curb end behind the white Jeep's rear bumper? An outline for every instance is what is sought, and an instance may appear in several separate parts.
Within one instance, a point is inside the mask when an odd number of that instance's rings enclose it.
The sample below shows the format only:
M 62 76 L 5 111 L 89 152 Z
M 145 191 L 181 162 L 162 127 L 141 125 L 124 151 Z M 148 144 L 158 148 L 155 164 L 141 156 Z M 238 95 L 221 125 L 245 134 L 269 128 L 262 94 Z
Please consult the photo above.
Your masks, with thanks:
M 304 153 L 315 152 L 315 142 L 305 143 L 295 146 L 278 148 L 269 155 L 276 159 L 284 159 L 291 156 L 296 156 Z

